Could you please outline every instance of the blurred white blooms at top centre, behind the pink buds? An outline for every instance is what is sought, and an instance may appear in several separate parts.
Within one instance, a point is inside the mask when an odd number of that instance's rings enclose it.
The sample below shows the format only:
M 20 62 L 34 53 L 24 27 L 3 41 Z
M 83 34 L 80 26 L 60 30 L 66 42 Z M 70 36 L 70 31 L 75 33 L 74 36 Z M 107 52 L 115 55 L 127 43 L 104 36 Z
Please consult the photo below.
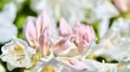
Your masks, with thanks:
M 56 23 L 61 17 L 70 23 L 70 26 L 74 26 L 74 23 L 79 19 L 84 18 L 84 8 L 87 5 L 86 0 L 31 0 L 31 9 L 41 13 L 47 11 L 50 16 L 53 17 Z

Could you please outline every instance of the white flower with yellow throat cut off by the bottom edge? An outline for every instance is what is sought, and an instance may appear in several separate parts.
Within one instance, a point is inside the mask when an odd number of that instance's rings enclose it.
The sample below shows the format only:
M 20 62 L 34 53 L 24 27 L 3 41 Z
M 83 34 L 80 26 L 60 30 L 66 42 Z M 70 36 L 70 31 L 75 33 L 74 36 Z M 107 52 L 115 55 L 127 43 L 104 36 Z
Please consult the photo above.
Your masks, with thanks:
M 39 60 L 32 69 L 24 70 L 24 72 L 62 72 L 62 63 L 52 54 L 48 59 Z

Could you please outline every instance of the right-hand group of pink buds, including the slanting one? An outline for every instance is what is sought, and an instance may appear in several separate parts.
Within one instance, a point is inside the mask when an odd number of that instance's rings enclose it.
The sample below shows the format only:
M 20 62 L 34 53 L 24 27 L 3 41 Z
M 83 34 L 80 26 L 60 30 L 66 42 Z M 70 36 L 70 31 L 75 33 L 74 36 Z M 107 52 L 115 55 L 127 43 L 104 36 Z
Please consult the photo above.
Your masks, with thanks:
M 53 53 L 64 51 L 68 54 L 69 49 L 69 53 L 74 52 L 72 53 L 74 55 L 83 54 L 88 49 L 91 41 L 95 39 L 94 31 L 91 26 L 86 26 L 77 21 L 74 29 L 72 29 L 64 18 L 61 18 L 60 20 L 60 34 L 63 37 L 63 40 L 57 42 L 51 48 Z

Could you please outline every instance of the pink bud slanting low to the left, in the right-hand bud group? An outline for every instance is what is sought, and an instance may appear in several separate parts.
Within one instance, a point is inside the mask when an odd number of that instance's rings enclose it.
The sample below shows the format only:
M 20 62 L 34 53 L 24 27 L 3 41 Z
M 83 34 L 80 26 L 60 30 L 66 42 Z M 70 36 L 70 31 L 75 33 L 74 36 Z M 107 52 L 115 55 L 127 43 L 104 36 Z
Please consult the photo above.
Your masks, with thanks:
M 70 42 L 73 42 L 75 39 L 75 35 L 67 35 L 65 38 L 63 38 L 60 42 L 57 42 L 56 44 L 54 44 L 52 47 L 51 47 L 51 52 L 53 53 L 60 53 L 60 52 L 63 52 L 67 48 L 69 48 L 70 46 Z

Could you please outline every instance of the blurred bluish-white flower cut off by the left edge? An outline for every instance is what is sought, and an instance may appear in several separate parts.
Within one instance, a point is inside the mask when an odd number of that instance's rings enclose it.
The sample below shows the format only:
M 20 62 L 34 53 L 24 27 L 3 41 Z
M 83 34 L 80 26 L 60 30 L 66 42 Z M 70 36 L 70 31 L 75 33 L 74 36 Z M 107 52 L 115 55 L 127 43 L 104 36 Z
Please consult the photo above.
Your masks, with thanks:
M 13 25 L 16 16 L 16 6 L 14 3 L 5 4 L 0 12 L 0 43 L 10 41 L 13 37 L 16 37 L 17 29 Z

